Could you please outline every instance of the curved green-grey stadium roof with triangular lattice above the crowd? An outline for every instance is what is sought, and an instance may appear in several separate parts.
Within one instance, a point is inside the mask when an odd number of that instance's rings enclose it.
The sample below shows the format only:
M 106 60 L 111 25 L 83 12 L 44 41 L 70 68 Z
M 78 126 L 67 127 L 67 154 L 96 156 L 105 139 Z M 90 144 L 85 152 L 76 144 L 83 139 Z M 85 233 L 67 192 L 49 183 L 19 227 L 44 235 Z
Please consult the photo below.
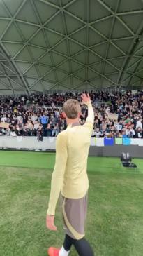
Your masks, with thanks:
M 0 1 L 1 94 L 142 83 L 142 0 Z

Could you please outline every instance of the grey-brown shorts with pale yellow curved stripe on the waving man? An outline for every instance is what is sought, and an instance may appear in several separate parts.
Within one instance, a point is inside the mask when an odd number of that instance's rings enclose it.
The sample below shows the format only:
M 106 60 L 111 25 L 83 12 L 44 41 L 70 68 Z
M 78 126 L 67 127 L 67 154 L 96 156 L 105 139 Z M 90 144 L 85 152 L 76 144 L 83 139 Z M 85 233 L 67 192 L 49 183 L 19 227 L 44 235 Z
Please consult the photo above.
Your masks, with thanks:
M 69 199 L 62 196 L 62 213 L 66 234 L 74 239 L 84 237 L 84 224 L 87 212 L 87 194 L 80 199 Z

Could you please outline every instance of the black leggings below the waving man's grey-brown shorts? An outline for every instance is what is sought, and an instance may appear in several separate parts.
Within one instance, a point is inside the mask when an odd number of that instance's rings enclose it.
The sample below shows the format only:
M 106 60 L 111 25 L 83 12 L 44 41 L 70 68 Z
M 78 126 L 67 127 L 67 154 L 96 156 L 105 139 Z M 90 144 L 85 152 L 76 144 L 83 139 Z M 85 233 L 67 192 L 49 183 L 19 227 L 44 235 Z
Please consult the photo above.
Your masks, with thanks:
M 63 247 L 66 251 L 70 250 L 71 246 L 75 246 L 75 250 L 77 250 L 78 255 L 80 256 L 94 256 L 93 250 L 91 246 L 86 241 L 85 238 L 80 240 L 73 239 L 66 234 L 65 241 L 63 243 Z

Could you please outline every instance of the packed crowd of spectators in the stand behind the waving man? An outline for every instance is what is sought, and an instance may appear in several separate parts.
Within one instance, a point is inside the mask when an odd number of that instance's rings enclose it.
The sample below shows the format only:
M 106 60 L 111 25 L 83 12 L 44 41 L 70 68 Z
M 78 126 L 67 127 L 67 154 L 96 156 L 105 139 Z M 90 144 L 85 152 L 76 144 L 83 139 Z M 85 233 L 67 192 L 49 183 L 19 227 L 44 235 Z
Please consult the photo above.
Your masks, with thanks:
M 95 114 L 92 137 L 143 137 L 143 92 L 91 92 Z M 81 93 L 22 95 L 0 98 L 0 135 L 52 136 L 66 129 L 62 105 L 69 98 L 81 101 Z M 80 123 L 88 114 L 82 105 Z

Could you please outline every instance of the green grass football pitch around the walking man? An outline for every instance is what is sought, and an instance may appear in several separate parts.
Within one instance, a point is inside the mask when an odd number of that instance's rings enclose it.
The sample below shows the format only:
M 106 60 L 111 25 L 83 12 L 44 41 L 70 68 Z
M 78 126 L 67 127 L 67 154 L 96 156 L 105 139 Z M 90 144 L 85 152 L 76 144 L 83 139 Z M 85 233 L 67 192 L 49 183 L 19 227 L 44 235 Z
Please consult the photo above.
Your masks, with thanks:
M 61 211 L 57 231 L 45 227 L 54 153 L 0 151 L 0 255 L 46 256 L 63 244 Z M 143 255 L 143 159 L 137 169 L 120 159 L 89 157 L 86 238 L 96 256 Z M 74 248 L 71 256 L 76 256 Z

